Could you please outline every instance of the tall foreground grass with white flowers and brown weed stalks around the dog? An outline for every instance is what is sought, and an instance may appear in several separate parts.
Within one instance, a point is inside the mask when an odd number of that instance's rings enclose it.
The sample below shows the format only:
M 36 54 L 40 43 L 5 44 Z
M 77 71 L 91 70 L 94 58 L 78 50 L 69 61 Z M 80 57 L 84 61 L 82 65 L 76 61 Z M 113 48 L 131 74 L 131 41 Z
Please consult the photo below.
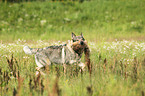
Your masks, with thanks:
M 46 76 L 36 76 L 35 60 L 33 56 L 26 55 L 22 48 L 24 45 L 48 46 L 48 42 L 38 42 L 28 44 L 19 40 L 1 45 L 1 95 L 144 96 L 143 42 L 116 41 L 99 45 L 90 42 L 91 75 L 87 67 L 80 72 L 75 65 L 68 66 L 64 75 L 61 65 L 53 65 Z

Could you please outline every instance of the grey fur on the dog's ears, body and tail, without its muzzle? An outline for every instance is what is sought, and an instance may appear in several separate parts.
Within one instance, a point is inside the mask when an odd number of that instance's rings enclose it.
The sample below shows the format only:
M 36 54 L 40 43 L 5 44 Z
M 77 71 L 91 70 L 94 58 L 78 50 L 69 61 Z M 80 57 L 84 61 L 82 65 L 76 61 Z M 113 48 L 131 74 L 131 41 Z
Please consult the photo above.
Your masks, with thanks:
M 76 42 L 80 39 L 81 41 L 84 40 L 82 34 L 81 36 L 75 36 L 75 34 L 72 33 L 72 42 Z M 77 52 L 76 50 L 73 50 L 69 44 L 49 46 L 45 48 L 30 48 L 25 46 L 23 50 L 26 54 L 35 54 L 35 62 L 39 68 L 51 64 L 80 63 L 81 66 L 83 66 L 83 63 L 80 62 L 83 51 Z

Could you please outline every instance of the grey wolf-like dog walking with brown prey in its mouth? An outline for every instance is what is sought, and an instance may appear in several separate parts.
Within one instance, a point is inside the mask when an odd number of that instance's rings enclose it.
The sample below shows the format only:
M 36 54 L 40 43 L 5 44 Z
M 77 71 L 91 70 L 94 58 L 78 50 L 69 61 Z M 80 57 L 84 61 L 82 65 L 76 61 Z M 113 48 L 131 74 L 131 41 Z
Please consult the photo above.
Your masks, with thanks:
M 39 72 L 40 69 L 51 64 L 62 64 L 65 72 L 66 65 L 68 64 L 77 64 L 83 69 L 90 62 L 90 50 L 82 33 L 80 36 L 72 33 L 72 40 L 64 45 L 45 48 L 30 48 L 25 46 L 23 50 L 26 54 L 35 54 L 35 62 L 38 66 L 36 69 Z M 86 64 L 81 62 L 83 52 L 85 54 Z

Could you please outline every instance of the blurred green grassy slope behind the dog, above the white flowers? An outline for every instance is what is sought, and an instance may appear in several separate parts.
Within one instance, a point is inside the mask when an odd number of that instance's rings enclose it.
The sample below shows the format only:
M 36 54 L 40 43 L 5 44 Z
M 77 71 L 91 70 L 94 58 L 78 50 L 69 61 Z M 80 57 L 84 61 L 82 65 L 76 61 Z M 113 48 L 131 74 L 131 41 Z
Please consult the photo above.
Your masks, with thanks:
M 144 41 L 144 5 L 144 0 L 4 0 L 0 3 L 0 39 L 68 40 L 71 32 L 83 32 L 91 41 Z

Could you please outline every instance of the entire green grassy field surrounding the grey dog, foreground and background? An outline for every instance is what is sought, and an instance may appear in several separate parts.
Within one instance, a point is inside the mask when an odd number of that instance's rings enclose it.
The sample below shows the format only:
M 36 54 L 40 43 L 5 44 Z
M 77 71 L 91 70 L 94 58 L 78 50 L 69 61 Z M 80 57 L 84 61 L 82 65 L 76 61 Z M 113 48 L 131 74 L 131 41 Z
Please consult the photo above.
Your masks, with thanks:
M 0 2 L 1 96 L 144 96 L 145 1 Z M 67 43 L 83 32 L 92 72 L 53 65 L 35 76 L 24 46 Z M 82 57 L 84 62 L 84 57 Z

